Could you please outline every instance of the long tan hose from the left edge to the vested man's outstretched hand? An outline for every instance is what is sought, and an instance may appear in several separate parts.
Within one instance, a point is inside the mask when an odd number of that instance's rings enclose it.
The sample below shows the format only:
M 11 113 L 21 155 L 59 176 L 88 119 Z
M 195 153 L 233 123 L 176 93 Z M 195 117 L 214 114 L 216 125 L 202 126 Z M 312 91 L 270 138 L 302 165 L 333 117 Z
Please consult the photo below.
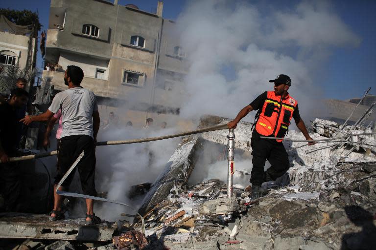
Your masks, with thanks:
M 170 138 L 175 138 L 175 137 L 180 137 L 180 136 L 185 136 L 185 135 L 194 135 L 194 134 L 200 134 L 200 133 L 205 133 L 205 132 L 210 132 L 210 131 L 222 130 L 222 129 L 227 129 L 227 128 L 228 128 L 227 124 L 223 124 L 223 125 L 216 125 L 216 126 L 201 128 L 201 129 L 197 129 L 197 130 L 193 130 L 193 131 L 189 131 L 189 132 L 183 132 L 183 133 L 174 134 L 174 135 L 165 135 L 165 136 L 159 136 L 159 137 L 150 137 L 150 138 L 144 138 L 144 139 L 127 140 L 127 141 L 97 142 L 97 143 L 95 143 L 95 146 L 145 143 L 145 142 L 159 141 L 159 140 L 170 139 Z M 55 150 L 55 151 L 41 153 L 41 154 L 32 154 L 32 155 L 24 155 L 24 156 L 19 156 L 19 157 L 11 157 L 11 158 L 9 158 L 9 161 L 10 162 L 18 162 L 18 161 L 24 161 L 24 160 L 32 160 L 32 159 L 43 158 L 43 157 L 52 156 L 52 155 L 56 155 L 56 154 L 57 154 L 57 151 Z M 0 163 L 1 163 L 1 161 L 0 161 Z

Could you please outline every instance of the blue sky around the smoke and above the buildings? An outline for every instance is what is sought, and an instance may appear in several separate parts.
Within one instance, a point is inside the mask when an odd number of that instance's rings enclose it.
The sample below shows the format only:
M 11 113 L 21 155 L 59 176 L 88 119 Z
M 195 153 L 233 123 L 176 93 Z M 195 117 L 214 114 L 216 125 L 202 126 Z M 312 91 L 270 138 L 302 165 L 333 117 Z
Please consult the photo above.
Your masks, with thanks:
M 191 2 L 192 1 L 185 0 L 164 0 L 164 18 L 171 20 L 179 19 L 182 13 L 189 8 Z M 223 0 L 218 0 L 218 2 L 223 2 Z M 299 12 L 298 9 L 299 4 L 305 1 L 228 1 L 229 5 L 233 6 L 242 2 L 258 10 L 258 15 L 260 16 L 258 20 L 273 21 L 283 16 L 284 19 L 288 21 L 290 17 L 286 14 L 292 11 L 296 12 L 292 13 L 291 19 L 297 18 L 295 20 L 299 20 L 299 18 L 301 18 L 299 15 L 305 14 L 304 12 Z M 280 38 L 296 36 L 294 37 L 295 42 L 302 42 L 304 43 L 303 45 L 308 44 L 315 49 L 310 49 L 311 51 L 309 51 L 309 49 L 305 50 L 302 49 L 302 47 L 297 48 L 296 44 L 283 46 L 283 43 L 288 44 L 291 41 L 281 39 L 281 47 L 284 51 L 282 54 L 288 54 L 293 59 L 304 58 L 307 61 L 313 61 L 311 64 L 308 63 L 310 74 L 308 74 L 309 79 L 305 80 L 307 83 L 313 84 L 313 87 L 317 89 L 319 95 L 323 98 L 346 100 L 352 97 L 361 97 L 370 86 L 373 87 L 370 94 L 375 95 L 376 17 L 374 10 L 376 9 L 376 1 L 333 0 L 318 2 L 322 2 L 323 4 L 321 5 L 326 5 L 325 11 L 329 10 L 331 18 L 324 20 L 327 22 L 323 21 L 320 23 L 321 26 L 318 24 L 315 27 L 317 33 L 313 33 L 312 37 L 307 37 L 304 29 L 299 30 L 298 25 L 291 26 L 291 24 L 287 23 L 284 23 L 286 26 L 282 27 L 280 32 L 278 32 L 278 30 L 274 32 L 274 35 Z M 44 30 L 48 26 L 49 3 L 49 0 L 2 0 L 0 1 L 0 7 L 38 11 L 40 22 L 44 25 L 42 30 Z M 140 9 L 149 12 L 155 12 L 157 7 L 157 0 L 119 0 L 118 3 L 133 3 L 139 6 Z M 203 6 L 204 5 L 205 4 L 203 4 Z M 233 6 L 229 6 L 229 8 L 231 9 Z M 279 14 L 281 16 L 279 16 Z M 284 24 L 281 21 L 280 25 Z M 321 35 L 321 27 L 327 25 L 332 25 L 334 29 L 336 28 L 335 25 L 339 25 L 338 28 L 344 29 L 345 33 L 348 32 L 349 34 L 347 35 L 351 38 L 346 40 L 343 39 L 343 37 L 338 37 L 338 41 L 342 39 L 344 42 L 335 43 L 335 41 L 326 41 L 326 46 L 321 48 L 320 41 L 315 39 L 315 36 L 317 36 L 317 34 Z M 288 27 L 293 27 L 293 29 L 287 29 Z M 268 26 L 266 25 L 264 28 L 268 29 Z M 335 38 L 336 36 L 334 34 L 332 39 Z M 317 45 L 309 44 L 310 41 L 312 43 L 317 42 Z M 275 49 L 275 44 L 272 44 L 272 46 Z M 268 48 L 268 44 L 265 44 L 265 48 Z M 278 49 L 275 50 L 278 51 Z M 288 51 L 288 53 L 286 51 Z M 262 58 L 259 60 L 262 60 Z M 41 67 L 42 61 L 38 53 L 38 67 Z M 233 65 L 224 65 L 222 72 L 228 81 L 236 79 L 234 70 L 236 69 L 234 69 Z M 280 74 L 280 72 L 275 73 L 275 75 L 278 74 Z M 288 73 L 285 72 L 285 74 Z M 304 79 L 299 79 L 299 81 L 304 81 Z M 292 82 L 294 83 L 294 79 L 292 79 Z

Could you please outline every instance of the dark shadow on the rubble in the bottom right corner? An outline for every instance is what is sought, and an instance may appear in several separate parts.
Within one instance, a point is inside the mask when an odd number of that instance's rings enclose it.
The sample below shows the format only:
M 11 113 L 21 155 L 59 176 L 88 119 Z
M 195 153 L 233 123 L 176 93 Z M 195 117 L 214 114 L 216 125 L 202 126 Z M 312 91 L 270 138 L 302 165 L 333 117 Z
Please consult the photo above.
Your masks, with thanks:
M 341 250 L 370 249 L 370 246 L 375 246 L 376 227 L 372 213 L 359 206 L 346 206 L 345 211 L 349 220 L 355 226 L 362 227 L 362 230 L 344 234 Z

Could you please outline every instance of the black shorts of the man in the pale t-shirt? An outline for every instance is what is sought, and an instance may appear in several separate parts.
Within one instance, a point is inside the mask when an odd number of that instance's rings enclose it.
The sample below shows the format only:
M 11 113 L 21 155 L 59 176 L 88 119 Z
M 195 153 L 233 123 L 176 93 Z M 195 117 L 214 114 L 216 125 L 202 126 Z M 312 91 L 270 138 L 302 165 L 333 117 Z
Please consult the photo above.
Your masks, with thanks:
M 69 187 L 71 185 L 75 170 L 78 168 L 83 193 L 96 196 L 94 183 L 95 145 L 94 139 L 89 135 L 71 135 L 60 139 L 55 184 L 59 183 L 82 151 L 85 151 L 84 157 L 78 162 L 77 166 L 61 186 Z

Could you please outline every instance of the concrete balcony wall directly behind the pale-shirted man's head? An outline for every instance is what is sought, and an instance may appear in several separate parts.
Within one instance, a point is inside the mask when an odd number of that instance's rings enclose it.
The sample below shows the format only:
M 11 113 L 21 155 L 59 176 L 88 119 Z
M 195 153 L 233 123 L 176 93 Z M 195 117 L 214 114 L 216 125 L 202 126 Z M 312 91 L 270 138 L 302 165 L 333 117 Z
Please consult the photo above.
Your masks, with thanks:
M 42 78 L 45 81 L 49 81 L 56 90 L 67 90 L 67 85 L 64 84 L 64 72 L 48 71 L 44 70 Z M 81 86 L 86 89 L 90 89 L 96 96 L 109 97 L 108 96 L 108 81 L 102 79 L 96 79 L 92 77 L 84 77 Z

